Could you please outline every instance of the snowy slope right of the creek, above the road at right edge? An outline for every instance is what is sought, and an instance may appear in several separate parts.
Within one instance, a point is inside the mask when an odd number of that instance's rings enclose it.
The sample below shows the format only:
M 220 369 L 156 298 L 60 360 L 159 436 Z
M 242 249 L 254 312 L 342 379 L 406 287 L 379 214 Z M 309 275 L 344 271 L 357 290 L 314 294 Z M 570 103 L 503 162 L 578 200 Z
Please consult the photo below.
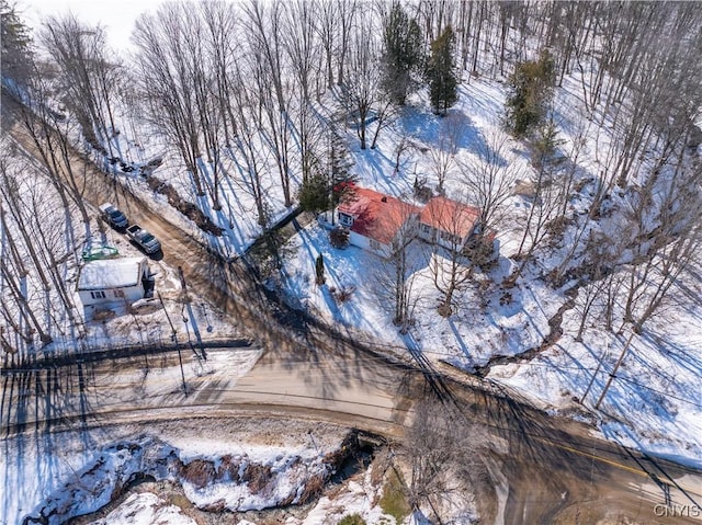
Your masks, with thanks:
M 588 392 L 582 402 L 593 408 L 627 336 L 615 338 L 592 328 L 577 342 L 573 317 L 566 317 L 566 335 L 554 347 L 529 363 L 496 366 L 489 377 L 566 413 L 579 408 L 573 398 L 582 401 Z M 604 436 L 702 467 L 701 333 L 702 311 L 698 308 L 684 316 L 669 312 L 632 339 L 600 411 L 591 416 Z

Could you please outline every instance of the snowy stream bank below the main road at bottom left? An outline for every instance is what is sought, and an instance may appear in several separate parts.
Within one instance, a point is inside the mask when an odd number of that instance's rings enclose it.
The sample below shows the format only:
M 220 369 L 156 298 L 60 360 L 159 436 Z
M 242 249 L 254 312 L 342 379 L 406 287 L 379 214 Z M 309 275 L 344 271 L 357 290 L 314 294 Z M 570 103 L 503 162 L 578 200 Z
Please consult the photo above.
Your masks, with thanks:
M 193 440 L 204 427 L 207 437 Z M 23 434 L 3 441 L 2 486 L 12 487 L 14 497 L 3 498 L 0 523 L 41 515 L 49 524 L 65 523 L 102 509 L 141 475 L 182 486 L 184 497 L 201 510 L 271 509 L 305 497 L 307 483 L 317 487 L 317 477 L 327 480 L 332 473 L 329 458 L 346 434 L 329 424 L 264 419 L 186 419 Z M 315 503 L 307 517 L 291 523 L 314 524 L 351 513 L 380 523 L 381 487 L 371 483 L 371 473 L 356 476 Z M 117 503 L 92 523 L 199 523 L 182 501 L 162 492 L 136 489 Z

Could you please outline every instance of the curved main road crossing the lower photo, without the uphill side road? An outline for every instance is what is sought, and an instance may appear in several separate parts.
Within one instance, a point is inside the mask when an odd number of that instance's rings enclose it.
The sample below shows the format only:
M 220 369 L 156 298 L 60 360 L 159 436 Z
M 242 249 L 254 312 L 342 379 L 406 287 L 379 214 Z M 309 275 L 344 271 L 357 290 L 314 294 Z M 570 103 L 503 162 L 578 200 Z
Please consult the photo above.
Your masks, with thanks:
M 143 356 L 8 373 L 3 430 L 273 414 L 356 426 L 399 441 L 411 424 L 414 399 L 426 391 L 420 372 L 363 355 L 283 357 L 251 347 L 210 351 L 207 357 L 202 362 L 183 352 L 182 376 L 176 352 L 151 357 L 148 374 Z M 688 523 L 659 518 L 655 505 L 693 505 L 702 498 L 698 472 L 569 433 L 578 425 L 495 395 L 448 388 L 466 416 L 489 430 L 495 444 L 489 456 L 506 480 L 501 505 L 482 502 L 486 523 L 498 514 L 514 524 L 598 523 L 605 516 Z M 18 420 L 24 427 L 13 425 Z

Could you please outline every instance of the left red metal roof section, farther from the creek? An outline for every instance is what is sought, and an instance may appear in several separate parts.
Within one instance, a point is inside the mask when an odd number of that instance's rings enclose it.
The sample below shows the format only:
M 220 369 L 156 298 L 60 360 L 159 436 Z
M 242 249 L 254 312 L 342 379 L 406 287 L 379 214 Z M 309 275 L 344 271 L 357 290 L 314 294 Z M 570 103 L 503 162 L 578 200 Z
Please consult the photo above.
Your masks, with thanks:
M 355 186 L 342 197 L 339 212 L 353 216 L 351 231 L 389 244 L 399 228 L 420 208 L 398 198 Z

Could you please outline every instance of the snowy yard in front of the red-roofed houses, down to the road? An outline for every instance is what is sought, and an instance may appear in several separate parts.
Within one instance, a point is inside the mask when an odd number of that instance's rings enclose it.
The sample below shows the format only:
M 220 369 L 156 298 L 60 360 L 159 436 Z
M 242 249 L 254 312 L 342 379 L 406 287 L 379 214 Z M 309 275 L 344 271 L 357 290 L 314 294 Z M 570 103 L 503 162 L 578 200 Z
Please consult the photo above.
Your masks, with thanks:
M 485 365 L 492 355 L 512 355 L 539 345 L 548 331 L 548 317 L 558 308 L 556 297 L 545 288 L 516 290 L 505 306 L 499 304 L 499 290 L 488 295 L 467 289 L 456 298 L 456 313 L 442 318 L 437 313 L 440 294 L 429 270 L 429 259 L 434 255 L 427 244 L 415 241 L 411 260 L 417 266 L 416 324 L 409 334 L 401 335 L 392 322 L 392 289 L 385 287 L 386 275 L 392 272 L 387 261 L 356 247 L 333 248 L 328 231 L 318 225 L 302 230 L 288 248 L 295 255 L 286 261 L 281 285 L 298 307 L 331 323 L 360 330 L 374 342 L 397 349 L 417 346 L 428 355 L 468 369 Z M 325 260 L 324 286 L 315 284 L 318 254 Z M 501 262 L 509 267 L 508 261 Z M 507 273 L 498 267 L 492 277 L 499 279 Z M 348 298 L 340 298 L 344 290 Z M 484 303 L 494 307 L 491 313 L 480 307 Z

